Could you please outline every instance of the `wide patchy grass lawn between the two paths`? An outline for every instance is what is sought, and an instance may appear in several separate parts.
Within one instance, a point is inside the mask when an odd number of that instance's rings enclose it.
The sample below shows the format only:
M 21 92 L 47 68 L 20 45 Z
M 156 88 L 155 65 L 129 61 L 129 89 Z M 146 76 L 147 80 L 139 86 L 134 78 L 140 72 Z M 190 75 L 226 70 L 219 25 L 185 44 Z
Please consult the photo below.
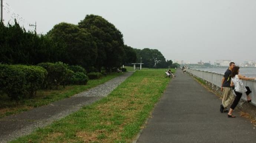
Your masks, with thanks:
M 132 142 L 170 81 L 164 71 L 138 70 L 107 97 L 12 143 Z

